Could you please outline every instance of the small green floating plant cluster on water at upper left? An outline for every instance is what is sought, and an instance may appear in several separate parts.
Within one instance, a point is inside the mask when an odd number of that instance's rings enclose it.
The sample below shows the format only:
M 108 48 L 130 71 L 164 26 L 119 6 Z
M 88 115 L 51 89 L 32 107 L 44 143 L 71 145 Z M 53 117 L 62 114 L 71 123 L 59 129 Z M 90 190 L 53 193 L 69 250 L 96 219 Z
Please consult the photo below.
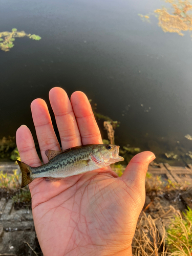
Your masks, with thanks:
M 10 49 L 13 48 L 14 46 L 13 41 L 15 41 L 15 37 L 24 37 L 24 36 L 27 36 L 33 40 L 41 39 L 39 35 L 26 34 L 25 31 L 17 31 L 17 29 L 13 28 L 11 32 L 9 31 L 0 32 L 0 49 L 4 52 L 10 51 Z

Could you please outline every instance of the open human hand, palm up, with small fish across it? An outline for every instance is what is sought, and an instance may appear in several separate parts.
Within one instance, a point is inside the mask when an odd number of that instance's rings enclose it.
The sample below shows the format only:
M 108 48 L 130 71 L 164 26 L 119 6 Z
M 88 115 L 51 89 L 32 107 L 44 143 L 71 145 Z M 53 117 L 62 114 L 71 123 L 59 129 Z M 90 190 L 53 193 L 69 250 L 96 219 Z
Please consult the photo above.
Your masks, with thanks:
M 89 100 L 74 92 L 69 100 L 61 88 L 49 93 L 63 150 L 102 143 Z M 44 163 L 45 151 L 59 151 L 47 104 L 31 103 L 32 117 Z M 23 162 L 41 165 L 32 134 L 22 125 L 16 142 Z M 56 182 L 34 179 L 29 188 L 37 238 L 45 256 L 132 255 L 132 239 L 145 201 L 145 176 L 152 152 L 137 154 L 118 177 L 111 167 Z

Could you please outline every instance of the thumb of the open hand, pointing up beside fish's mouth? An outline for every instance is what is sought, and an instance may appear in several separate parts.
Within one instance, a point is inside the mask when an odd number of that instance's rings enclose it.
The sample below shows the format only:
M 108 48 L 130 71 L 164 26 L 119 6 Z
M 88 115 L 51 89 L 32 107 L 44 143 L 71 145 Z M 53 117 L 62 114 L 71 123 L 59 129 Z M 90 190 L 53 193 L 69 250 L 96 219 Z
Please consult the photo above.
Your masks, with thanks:
M 155 159 L 155 155 L 150 151 L 145 151 L 134 156 L 121 178 L 131 186 L 143 188 L 148 165 Z

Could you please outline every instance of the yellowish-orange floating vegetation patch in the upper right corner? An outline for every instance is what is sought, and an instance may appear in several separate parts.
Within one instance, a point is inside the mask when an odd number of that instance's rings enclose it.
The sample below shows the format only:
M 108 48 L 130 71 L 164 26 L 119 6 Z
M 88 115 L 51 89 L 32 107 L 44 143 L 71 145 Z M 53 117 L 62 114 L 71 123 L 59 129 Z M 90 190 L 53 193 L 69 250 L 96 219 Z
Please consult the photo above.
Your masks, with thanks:
M 172 12 L 162 7 L 154 13 L 147 15 L 138 14 L 143 22 L 150 22 L 150 15 L 159 19 L 159 27 L 166 33 L 178 33 L 183 36 L 183 31 L 192 31 L 192 5 L 191 0 L 164 0 L 165 3 L 172 5 Z M 191 35 L 192 37 L 192 35 Z

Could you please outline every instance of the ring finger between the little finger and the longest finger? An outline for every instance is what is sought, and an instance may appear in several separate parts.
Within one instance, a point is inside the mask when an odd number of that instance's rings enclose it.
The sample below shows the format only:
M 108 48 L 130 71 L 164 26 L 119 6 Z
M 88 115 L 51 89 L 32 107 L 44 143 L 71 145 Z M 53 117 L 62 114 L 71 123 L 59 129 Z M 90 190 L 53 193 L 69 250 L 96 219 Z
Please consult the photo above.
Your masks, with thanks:
M 53 124 L 46 102 L 42 99 L 33 100 L 31 103 L 31 112 L 42 160 L 44 163 L 47 163 L 48 158 L 45 155 L 45 151 L 60 151 L 60 146 L 53 129 Z

